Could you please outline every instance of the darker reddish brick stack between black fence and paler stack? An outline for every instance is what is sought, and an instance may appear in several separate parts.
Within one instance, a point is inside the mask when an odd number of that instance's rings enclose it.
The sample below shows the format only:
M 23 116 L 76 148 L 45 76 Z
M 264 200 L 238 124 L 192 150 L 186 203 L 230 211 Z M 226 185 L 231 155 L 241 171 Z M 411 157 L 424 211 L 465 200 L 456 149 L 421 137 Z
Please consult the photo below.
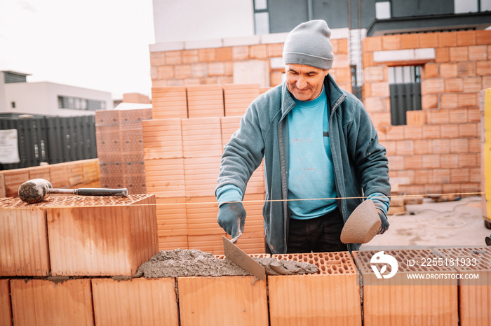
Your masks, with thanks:
M 102 187 L 126 187 L 129 194 L 146 193 L 142 120 L 151 118 L 152 109 L 95 111 Z

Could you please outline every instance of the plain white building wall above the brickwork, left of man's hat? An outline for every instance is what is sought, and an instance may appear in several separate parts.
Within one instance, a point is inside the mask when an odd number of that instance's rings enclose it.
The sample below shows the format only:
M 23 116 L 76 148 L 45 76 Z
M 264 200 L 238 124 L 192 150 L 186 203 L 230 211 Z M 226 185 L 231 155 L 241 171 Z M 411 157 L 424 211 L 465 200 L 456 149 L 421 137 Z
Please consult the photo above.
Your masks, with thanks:
M 253 0 L 153 0 L 155 42 L 254 35 Z

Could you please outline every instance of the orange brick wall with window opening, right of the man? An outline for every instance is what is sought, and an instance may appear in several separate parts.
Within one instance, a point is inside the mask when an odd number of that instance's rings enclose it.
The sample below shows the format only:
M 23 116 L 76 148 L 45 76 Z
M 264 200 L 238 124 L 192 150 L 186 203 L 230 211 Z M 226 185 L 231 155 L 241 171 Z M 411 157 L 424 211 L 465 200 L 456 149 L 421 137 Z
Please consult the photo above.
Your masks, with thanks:
M 363 103 L 387 149 L 391 178 L 405 177 L 406 194 L 480 191 L 478 94 L 491 87 L 491 31 L 375 36 L 363 41 Z M 391 126 L 388 66 L 375 54 L 424 50 L 422 110 L 408 111 L 407 125 Z M 430 56 L 431 57 L 431 56 Z

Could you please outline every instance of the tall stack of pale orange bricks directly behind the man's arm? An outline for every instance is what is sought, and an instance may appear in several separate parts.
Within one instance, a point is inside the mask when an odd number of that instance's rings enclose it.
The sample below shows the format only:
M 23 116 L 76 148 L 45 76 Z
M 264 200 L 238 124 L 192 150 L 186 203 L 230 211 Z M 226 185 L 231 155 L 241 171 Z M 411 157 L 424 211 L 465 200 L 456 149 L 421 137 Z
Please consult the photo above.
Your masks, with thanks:
M 144 121 L 147 192 L 156 194 L 159 248 L 196 248 L 221 254 L 215 187 L 224 145 L 241 115 L 260 95 L 257 84 L 154 87 L 153 120 Z M 262 164 L 244 197 L 245 232 L 238 246 L 264 253 Z

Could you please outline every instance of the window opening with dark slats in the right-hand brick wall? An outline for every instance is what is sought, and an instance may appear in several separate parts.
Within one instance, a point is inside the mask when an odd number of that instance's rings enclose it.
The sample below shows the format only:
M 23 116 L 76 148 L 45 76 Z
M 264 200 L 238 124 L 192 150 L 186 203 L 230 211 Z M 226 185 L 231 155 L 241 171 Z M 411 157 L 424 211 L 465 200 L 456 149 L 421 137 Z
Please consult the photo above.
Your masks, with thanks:
M 406 112 L 421 110 L 421 66 L 389 67 L 391 124 L 405 125 Z

